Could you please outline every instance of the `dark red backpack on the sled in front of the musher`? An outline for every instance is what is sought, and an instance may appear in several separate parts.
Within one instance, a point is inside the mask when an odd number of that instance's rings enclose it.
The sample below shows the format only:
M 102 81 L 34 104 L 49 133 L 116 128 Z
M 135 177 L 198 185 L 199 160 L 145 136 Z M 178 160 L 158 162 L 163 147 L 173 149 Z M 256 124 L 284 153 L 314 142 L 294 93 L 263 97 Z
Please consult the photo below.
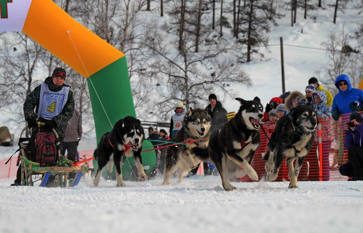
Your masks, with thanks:
M 52 133 L 39 132 L 34 141 L 34 162 L 50 165 L 57 159 L 56 137 Z

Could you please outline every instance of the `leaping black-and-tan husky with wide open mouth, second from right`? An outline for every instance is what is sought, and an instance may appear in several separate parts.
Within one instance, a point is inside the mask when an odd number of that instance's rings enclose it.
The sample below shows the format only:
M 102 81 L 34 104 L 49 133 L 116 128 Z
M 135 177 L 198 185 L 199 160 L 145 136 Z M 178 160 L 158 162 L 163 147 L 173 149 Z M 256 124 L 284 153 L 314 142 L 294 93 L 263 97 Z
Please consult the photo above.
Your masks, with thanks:
M 258 97 L 253 101 L 236 98 L 241 104 L 238 113 L 220 130 L 212 132 L 208 148 L 193 148 L 192 154 L 202 160 L 210 159 L 217 167 L 223 188 L 226 191 L 236 189 L 228 178 L 243 177 L 246 174 L 252 180 L 258 180 L 256 171 L 251 167 L 254 151 L 260 145 L 261 119 L 263 107 Z M 209 157 L 209 158 L 208 158 Z M 243 169 L 240 170 L 240 166 Z

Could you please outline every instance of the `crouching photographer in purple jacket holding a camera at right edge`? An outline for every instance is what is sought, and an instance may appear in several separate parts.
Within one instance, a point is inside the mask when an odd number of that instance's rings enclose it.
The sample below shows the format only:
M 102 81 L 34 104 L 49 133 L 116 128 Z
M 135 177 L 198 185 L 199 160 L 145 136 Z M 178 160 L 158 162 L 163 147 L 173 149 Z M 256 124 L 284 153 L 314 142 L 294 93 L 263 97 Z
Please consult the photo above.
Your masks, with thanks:
M 344 147 L 348 150 L 348 162 L 340 166 L 339 172 L 343 176 L 353 177 L 349 180 L 363 180 L 362 116 L 358 112 L 353 112 L 349 120 L 344 125 Z

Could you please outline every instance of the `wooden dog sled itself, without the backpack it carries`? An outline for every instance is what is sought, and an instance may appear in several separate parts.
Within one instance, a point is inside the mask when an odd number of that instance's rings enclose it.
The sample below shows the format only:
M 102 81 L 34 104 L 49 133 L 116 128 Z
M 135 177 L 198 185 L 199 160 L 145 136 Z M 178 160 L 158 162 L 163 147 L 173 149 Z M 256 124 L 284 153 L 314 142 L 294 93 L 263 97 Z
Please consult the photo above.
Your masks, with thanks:
M 38 122 L 38 127 L 43 126 L 44 123 Z M 59 142 L 56 141 L 56 159 L 52 165 L 41 165 L 40 163 L 31 161 L 34 150 L 26 151 L 26 146 L 33 144 L 31 138 L 22 138 L 24 131 L 28 128 L 25 126 L 20 133 L 19 146 L 20 146 L 20 161 L 21 161 L 21 185 L 22 186 L 34 186 L 34 183 L 40 181 L 39 187 L 48 187 L 49 179 L 52 177 L 52 185 L 49 187 L 74 187 L 77 186 L 79 180 L 81 180 L 83 173 L 83 166 L 73 167 L 73 164 L 77 161 L 71 161 L 61 155 Z M 58 138 L 57 132 L 53 129 L 53 134 Z M 28 143 L 25 143 L 27 142 Z M 34 146 L 34 145 L 32 145 Z M 33 148 L 33 147 L 32 147 Z M 68 179 L 68 173 L 76 173 L 74 179 Z M 41 179 L 33 181 L 33 175 L 42 175 Z M 53 179 L 55 177 L 54 183 Z M 48 184 L 49 183 L 49 184 Z M 48 185 L 47 185 L 48 184 Z

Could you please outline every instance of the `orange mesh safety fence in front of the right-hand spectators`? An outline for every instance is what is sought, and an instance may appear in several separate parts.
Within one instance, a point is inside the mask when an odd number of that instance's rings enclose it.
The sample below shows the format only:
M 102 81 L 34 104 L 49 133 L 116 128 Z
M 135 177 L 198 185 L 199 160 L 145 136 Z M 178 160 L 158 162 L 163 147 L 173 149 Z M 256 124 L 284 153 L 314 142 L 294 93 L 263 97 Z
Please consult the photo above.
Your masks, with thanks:
M 362 114 L 362 113 L 361 113 Z M 338 121 L 330 118 L 320 119 L 320 128 L 315 131 L 313 147 L 305 157 L 301 167 L 298 180 L 300 181 L 327 181 L 327 180 L 347 180 L 347 176 L 339 173 L 340 165 L 347 162 L 347 150 L 344 148 L 344 124 L 349 121 L 350 114 L 342 114 Z M 275 122 L 267 122 L 263 127 L 270 137 Z M 257 172 L 259 180 L 266 176 L 265 161 L 262 154 L 268 150 L 268 138 L 260 129 L 261 144 L 257 148 L 252 167 Z M 319 135 L 321 143 L 319 143 Z M 252 181 L 247 175 L 239 178 L 240 181 Z M 286 159 L 281 164 L 278 177 L 275 181 L 290 181 L 289 168 Z

